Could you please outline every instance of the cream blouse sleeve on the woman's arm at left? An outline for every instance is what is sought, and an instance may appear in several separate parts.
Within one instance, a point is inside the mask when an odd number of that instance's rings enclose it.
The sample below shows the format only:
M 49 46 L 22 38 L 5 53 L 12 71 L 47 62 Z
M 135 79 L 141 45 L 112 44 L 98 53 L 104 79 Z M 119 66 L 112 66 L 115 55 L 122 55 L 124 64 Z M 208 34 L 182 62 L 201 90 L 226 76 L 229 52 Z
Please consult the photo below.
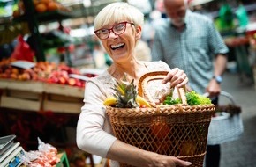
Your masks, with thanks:
M 77 125 L 77 145 L 88 153 L 106 157 L 109 148 L 117 140 L 110 133 L 109 119 L 106 119 L 103 100 L 106 98 L 103 87 L 96 80 L 86 84 L 84 105 L 81 108 Z

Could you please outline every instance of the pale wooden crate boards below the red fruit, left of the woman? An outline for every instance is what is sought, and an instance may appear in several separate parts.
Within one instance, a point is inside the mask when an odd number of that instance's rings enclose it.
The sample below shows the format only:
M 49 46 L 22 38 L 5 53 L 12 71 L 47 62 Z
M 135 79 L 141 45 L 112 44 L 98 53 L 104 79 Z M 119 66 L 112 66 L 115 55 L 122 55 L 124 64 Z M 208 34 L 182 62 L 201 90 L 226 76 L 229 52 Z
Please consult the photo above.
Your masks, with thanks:
M 84 88 L 64 84 L 0 79 L 0 107 L 29 111 L 80 113 Z

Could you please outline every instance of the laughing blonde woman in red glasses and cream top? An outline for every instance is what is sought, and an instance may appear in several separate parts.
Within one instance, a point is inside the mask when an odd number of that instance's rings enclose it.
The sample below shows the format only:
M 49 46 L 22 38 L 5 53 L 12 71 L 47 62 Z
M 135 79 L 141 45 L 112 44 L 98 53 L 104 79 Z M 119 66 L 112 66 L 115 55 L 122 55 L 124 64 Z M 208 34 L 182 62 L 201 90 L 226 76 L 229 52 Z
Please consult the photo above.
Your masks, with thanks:
M 124 74 L 128 79 L 134 79 L 136 85 L 140 76 L 159 70 L 169 71 L 162 84 L 170 82 L 171 86 L 182 87 L 188 82 L 181 69 L 169 69 L 161 61 L 142 62 L 136 59 L 135 47 L 141 38 L 143 21 L 143 14 L 126 3 L 109 4 L 94 19 L 94 33 L 113 63 L 101 75 L 87 81 L 77 126 L 77 144 L 79 149 L 110 159 L 111 167 L 119 166 L 118 162 L 139 167 L 188 166 L 191 163 L 176 157 L 159 155 L 119 141 L 111 131 L 105 112 L 103 101 L 113 93 L 113 78 L 120 80 Z

